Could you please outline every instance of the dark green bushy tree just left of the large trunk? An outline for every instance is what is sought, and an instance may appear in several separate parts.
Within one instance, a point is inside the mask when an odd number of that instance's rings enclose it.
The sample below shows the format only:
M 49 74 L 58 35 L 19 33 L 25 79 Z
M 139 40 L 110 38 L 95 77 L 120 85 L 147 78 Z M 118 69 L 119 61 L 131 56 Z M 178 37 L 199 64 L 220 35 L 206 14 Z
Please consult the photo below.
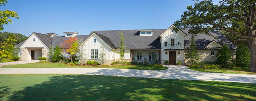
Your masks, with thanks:
M 245 45 L 237 45 L 236 49 L 236 66 L 249 67 L 250 66 L 250 51 Z

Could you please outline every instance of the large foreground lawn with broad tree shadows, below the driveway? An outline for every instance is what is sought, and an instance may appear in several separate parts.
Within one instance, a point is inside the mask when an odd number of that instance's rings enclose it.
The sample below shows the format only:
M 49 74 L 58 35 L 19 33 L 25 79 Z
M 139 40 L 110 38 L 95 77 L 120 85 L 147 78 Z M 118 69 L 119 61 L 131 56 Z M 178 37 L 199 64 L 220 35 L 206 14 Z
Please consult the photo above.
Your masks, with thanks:
M 0 75 L 2 101 L 255 101 L 256 84 L 64 74 Z

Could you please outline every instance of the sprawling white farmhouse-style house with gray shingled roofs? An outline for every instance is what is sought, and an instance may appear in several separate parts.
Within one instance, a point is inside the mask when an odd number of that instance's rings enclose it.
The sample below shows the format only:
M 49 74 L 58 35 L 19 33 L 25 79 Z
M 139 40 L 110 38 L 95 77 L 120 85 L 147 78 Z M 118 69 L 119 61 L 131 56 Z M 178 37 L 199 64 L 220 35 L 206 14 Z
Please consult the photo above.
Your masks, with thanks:
M 32 33 L 30 37 L 17 45 L 20 49 L 20 60 L 37 60 L 38 57 L 47 57 L 48 49 L 51 45 L 56 46 L 63 43 L 69 37 L 77 37 L 82 44 L 78 47 L 84 54 L 84 62 L 88 60 L 98 60 L 101 47 L 106 53 L 106 64 L 120 60 L 118 48 L 121 41 L 119 33 L 124 33 L 124 44 L 126 45 L 124 60 L 151 60 L 155 53 L 161 64 L 168 61 L 169 64 L 176 64 L 178 61 L 186 62 L 184 55 L 189 50 L 189 40 L 191 35 L 188 29 L 173 32 L 174 25 L 167 29 L 146 29 L 146 30 L 109 30 L 92 31 L 89 35 L 79 35 L 78 32 L 64 32 L 65 36 L 58 36 L 55 33 Z M 228 41 L 225 35 L 220 32 L 211 32 L 210 35 L 204 33 L 195 36 L 200 62 L 215 61 L 218 50 L 222 45 L 227 44 L 235 57 L 237 48 Z

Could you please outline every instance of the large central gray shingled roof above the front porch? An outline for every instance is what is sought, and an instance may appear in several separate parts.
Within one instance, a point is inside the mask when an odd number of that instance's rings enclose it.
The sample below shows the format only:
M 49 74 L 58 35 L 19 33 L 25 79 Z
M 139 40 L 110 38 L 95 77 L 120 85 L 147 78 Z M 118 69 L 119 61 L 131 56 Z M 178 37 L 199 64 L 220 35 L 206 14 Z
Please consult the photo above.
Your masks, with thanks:
M 115 47 L 119 47 L 118 43 L 121 41 L 119 38 L 120 33 L 124 33 L 124 44 L 126 49 L 161 49 L 161 43 L 158 36 L 166 29 L 145 29 L 154 30 L 152 36 L 140 36 L 139 30 L 110 30 L 110 31 L 92 31 L 90 35 L 95 32 L 100 35 L 104 35 L 112 41 Z

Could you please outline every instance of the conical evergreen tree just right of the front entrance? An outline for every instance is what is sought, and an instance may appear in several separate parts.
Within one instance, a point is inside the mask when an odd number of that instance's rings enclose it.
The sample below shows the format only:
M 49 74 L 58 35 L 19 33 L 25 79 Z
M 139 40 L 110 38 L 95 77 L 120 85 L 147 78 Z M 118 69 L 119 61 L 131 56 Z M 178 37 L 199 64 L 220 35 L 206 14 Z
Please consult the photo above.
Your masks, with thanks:
M 187 54 L 185 54 L 185 58 L 187 59 L 187 63 L 189 65 L 196 65 L 198 63 L 198 60 L 200 60 L 199 54 L 197 53 L 196 50 L 196 43 L 195 43 L 195 38 L 194 35 L 191 35 L 190 38 L 190 46 L 189 46 L 189 51 Z

